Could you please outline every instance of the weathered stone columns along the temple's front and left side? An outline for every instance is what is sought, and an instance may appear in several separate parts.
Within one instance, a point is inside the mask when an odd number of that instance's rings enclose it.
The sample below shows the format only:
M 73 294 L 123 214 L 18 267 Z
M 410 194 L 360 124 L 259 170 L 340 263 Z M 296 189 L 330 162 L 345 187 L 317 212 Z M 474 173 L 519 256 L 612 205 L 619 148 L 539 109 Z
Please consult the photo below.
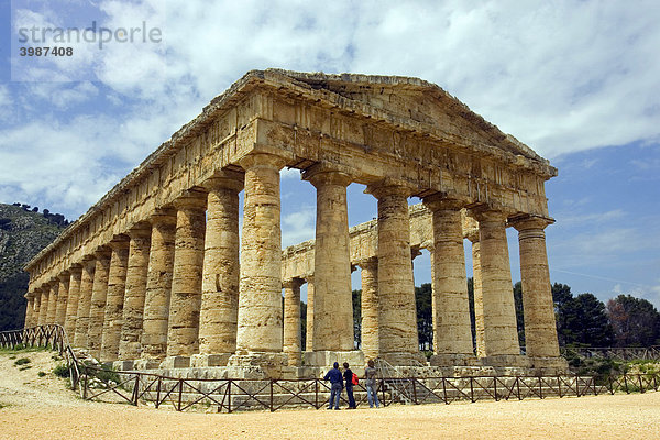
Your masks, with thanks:
M 280 278 L 279 169 L 285 160 L 252 154 L 243 175 L 224 173 L 117 235 L 58 279 L 35 292 L 31 323 L 56 322 L 103 361 L 163 360 L 194 354 L 282 353 L 300 364 L 301 280 Z M 351 351 L 353 316 L 346 174 L 315 165 L 304 173 L 317 189 L 314 279 L 308 279 L 308 350 Z M 239 264 L 239 191 L 245 189 Z M 396 364 L 418 352 L 407 198 L 393 182 L 371 185 L 378 200 L 377 258 L 359 262 L 363 277 L 363 350 Z M 433 327 L 438 356 L 472 355 L 461 202 L 425 199 L 433 224 Z M 519 354 L 506 217 L 475 211 L 475 298 L 484 356 Z M 538 219 L 520 230 L 528 354 L 559 355 L 548 264 Z M 240 292 L 240 295 L 239 295 Z M 240 298 L 240 301 L 239 301 Z M 529 321 L 529 322 L 527 322 Z M 552 322 L 550 322 L 552 321 Z M 552 323 L 552 326 L 550 326 Z M 284 331 L 283 331 L 284 327 Z M 557 352 L 557 354 L 556 354 Z M 224 359 L 223 362 L 227 362 Z

